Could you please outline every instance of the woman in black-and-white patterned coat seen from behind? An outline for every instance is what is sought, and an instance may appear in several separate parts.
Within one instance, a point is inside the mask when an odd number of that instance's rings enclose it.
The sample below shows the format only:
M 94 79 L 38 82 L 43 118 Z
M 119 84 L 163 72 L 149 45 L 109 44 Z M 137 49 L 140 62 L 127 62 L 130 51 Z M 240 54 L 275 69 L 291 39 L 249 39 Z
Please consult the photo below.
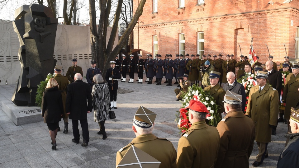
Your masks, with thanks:
M 103 139 L 107 138 L 105 132 L 105 120 L 109 120 L 109 107 L 110 107 L 110 93 L 109 87 L 104 82 L 102 75 L 97 74 L 93 77 L 95 85 L 93 85 L 92 99 L 93 99 L 93 112 L 94 121 L 99 123 L 100 131 L 97 134 L 102 134 Z

